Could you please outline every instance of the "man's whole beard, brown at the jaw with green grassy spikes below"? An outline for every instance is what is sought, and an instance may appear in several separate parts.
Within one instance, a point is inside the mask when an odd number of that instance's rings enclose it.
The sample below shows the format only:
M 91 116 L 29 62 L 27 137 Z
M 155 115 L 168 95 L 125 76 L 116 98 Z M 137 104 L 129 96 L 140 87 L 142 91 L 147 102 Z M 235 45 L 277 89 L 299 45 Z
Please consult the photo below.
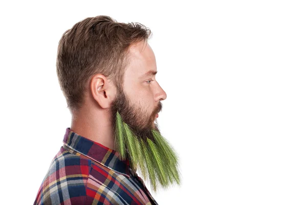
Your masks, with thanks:
M 133 106 L 120 87 L 118 90 L 111 112 L 115 150 L 120 160 L 129 160 L 134 176 L 140 168 L 144 180 L 149 178 L 153 191 L 172 183 L 180 185 L 177 153 L 155 124 L 156 114 L 162 110 L 161 102 L 148 114 L 142 105 Z

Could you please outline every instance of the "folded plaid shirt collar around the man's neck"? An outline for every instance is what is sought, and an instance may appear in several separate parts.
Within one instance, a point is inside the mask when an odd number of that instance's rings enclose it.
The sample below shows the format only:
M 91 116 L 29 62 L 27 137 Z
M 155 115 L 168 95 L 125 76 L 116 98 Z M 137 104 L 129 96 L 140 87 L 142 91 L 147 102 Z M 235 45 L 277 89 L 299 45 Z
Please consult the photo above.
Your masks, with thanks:
M 111 170 L 129 176 L 129 160 L 119 159 L 119 153 L 66 128 L 63 143 Z

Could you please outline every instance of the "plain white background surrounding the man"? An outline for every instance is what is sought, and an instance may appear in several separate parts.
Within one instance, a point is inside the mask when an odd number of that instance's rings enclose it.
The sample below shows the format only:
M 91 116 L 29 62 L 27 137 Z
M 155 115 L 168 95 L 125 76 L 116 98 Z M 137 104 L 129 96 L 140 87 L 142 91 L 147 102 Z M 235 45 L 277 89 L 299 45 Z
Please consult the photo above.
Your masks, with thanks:
M 158 122 L 182 173 L 159 204 L 307 204 L 305 1 L 108 2 L 1 3 L 0 203 L 33 204 L 71 126 L 62 33 L 109 15 L 153 33 Z

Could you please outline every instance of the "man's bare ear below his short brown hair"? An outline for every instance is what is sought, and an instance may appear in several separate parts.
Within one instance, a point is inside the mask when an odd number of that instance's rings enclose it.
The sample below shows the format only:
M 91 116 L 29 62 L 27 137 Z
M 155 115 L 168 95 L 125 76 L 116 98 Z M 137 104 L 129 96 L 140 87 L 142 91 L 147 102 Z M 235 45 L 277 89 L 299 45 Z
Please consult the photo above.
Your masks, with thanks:
M 96 74 L 92 77 L 90 89 L 101 108 L 109 108 L 116 96 L 115 86 L 102 74 Z

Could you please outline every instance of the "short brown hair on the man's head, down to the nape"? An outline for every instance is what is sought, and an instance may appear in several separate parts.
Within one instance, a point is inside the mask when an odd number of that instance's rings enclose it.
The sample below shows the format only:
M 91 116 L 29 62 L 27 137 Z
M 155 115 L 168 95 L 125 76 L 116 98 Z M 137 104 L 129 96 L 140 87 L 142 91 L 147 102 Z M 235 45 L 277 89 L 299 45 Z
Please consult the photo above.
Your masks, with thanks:
M 85 18 L 65 31 L 58 45 L 56 72 L 70 111 L 82 107 L 95 74 L 103 74 L 121 90 L 129 46 L 150 37 L 150 29 L 140 23 L 118 23 L 105 15 Z

